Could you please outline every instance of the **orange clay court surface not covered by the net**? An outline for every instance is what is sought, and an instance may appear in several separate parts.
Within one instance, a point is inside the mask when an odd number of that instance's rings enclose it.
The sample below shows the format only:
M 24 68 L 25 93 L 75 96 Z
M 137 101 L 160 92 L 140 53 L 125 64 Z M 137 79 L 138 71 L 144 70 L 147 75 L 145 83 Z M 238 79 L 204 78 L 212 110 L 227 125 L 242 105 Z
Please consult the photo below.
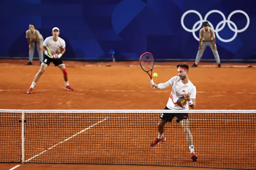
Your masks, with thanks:
M 26 91 L 40 68 L 39 63 L 34 61 L 34 65 L 27 66 L 25 60 L 0 60 L 0 109 L 164 109 L 166 106 L 171 87 L 163 90 L 151 89 L 149 76 L 142 71 L 138 61 L 65 63 L 69 83 L 75 91 L 64 90 L 62 72 L 51 63 L 36 84 L 33 94 L 28 95 Z M 177 62 L 155 63 L 153 72 L 158 73 L 158 77 L 154 81 L 164 83 L 177 75 L 176 64 Z M 239 67 L 229 67 L 232 65 Z M 190 67 L 189 79 L 197 88 L 196 109 L 256 109 L 256 64 L 250 64 L 251 67 L 246 67 L 247 65 L 224 63 L 222 68 L 218 68 L 216 63 L 200 63 L 197 68 Z M 253 136 L 251 140 L 254 140 Z M 147 154 L 150 156 L 150 153 L 144 153 Z M 16 165 L 20 164 L 1 164 L 0 169 L 9 170 Z M 45 168 L 156 170 L 160 167 L 22 164 L 16 170 Z M 177 167 L 161 169 L 203 170 Z

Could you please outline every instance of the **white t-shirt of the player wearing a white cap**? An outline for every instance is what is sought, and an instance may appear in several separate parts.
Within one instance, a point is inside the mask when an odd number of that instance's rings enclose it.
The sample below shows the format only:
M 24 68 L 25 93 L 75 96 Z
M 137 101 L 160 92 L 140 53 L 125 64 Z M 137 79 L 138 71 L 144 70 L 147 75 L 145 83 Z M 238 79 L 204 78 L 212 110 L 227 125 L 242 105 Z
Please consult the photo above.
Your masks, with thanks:
M 44 40 L 44 43 L 43 45 L 46 47 L 48 46 L 50 48 L 50 50 L 52 51 L 52 55 L 56 54 L 56 51 L 61 47 L 61 48 L 65 48 L 66 47 L 66 42 L 58 37 L 58 41 L 55 42 L 53 40 L 53 36 L 50 36 L 50 37 L 47 37 L 45 40 Z

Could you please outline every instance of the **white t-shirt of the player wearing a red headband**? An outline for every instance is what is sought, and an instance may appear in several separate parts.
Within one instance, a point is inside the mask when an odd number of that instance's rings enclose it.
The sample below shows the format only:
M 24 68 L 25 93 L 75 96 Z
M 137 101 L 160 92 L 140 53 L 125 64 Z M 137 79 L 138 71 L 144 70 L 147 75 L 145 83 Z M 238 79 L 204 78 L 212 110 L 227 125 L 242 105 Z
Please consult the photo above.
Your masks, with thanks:
M 186 101 L 182 95 L 189 92 L 190 99 L 196 99 L 196 86 L 194 86 L 191 81 L 188 81 L 187 84 L 183 84 L 179 76 L 172 77 L 168 80 L 168 83 L 170 86 L 172 85 L 172 91 L 166 106 L 169 109 L 189 109 L 188 101 Z M 178 103 L 180 103 L 180 106 Z

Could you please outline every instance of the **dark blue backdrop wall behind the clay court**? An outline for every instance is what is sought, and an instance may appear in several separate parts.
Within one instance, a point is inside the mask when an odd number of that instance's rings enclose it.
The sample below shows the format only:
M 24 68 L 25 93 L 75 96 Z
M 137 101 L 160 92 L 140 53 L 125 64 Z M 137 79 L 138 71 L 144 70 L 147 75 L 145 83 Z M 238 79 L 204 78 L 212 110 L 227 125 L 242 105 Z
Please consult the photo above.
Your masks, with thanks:
M 253 0 L 0 0 L 0 56 L 28 57 L 25 32 L 34 23 L 44 39 L 60 28 L 66 59 L 110 59 L 114 49 L 116 60 L 145 51 L 194 60 L 205 17 L 222 61 L 256 59 Z M 210 48 L 202 59 L 214 59 Z

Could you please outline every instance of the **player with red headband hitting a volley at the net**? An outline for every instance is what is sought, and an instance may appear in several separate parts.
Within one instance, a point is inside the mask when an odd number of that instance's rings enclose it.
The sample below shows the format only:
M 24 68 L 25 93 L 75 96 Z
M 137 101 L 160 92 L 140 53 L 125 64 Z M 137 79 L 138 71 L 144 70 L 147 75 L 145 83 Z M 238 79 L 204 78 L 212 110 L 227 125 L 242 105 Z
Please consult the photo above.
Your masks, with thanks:
M 166 83 L 160 84 L 151 84 L 151 87 L 154 89 L 164 89 L 172 85 L 172 91 L 167 102 L 167 105 L 164 109 L 178 110 L 178 109 L 189 109 L 190 106 L 192 109 L 196 106 L 196 87 L 188 79 L 188 65 L 187 64 L 178 64 L 178 76 L 172 77 Z M 194 141 L 193 136 L 189 129 L 189 120 L 188 113 L 162 113 L 160 115 L 160 121 L 158 123 L 158 137 L 150 143 L 150 146 L 156 146 L 157 144 L 164 142 L 166 138 L 164 134 L 164 125 L 167 122 L 172 122 L 172 119 L 177 117 L 176 122 L 180 123 L 184 132 L 186 134 L 186 142 L 190 149 L 190 158 L 193 162 L 196 162 L 197 156 L 194 152 Z

